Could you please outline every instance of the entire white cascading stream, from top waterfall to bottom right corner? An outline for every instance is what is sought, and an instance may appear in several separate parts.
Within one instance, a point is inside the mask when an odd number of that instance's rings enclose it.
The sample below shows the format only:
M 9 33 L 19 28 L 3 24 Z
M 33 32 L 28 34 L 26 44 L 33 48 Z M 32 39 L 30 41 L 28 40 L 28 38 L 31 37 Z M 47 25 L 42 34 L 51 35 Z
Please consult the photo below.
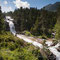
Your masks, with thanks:
M 14 36 L 16 35 L 18 38 L 23 39 L 25 42 L 32 43 L 34 46 L 43 48 L 43 45 L 41 43 L 38 43 L 36 41 L 32 41 L 31 39 L 29 39 L 25 35 L 16 34 L 15 26 L 14 26 L 14 23 L 13 23 L 13 19 L 11 19 L 10 16 L 6 16 L 6 20 L 5 21 L 9 23 L 10 31 L 11 31 L 11 33 Z M 50 46 L 51 43 L 52 42 L 46 42 L 46 44 L 48 44 L 48 46 Z M 58 46 L 59 46 L 59 44 L 57 44 L 56 46 L 53 46 L 53 47 L 50 46 L 48 48 L 56 56 L 56 60 L 60 60 L 60 52 L 58 52 L 57 49 L 56 49 Z

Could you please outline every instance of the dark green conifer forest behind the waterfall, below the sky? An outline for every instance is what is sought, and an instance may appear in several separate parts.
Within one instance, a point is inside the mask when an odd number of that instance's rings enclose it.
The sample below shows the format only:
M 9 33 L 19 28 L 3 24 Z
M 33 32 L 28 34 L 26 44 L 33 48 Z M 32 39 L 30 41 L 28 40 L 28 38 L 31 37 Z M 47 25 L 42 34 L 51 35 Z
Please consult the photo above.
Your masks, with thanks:
M 8 12 L 14 18 L 17 31 L 28 30 L 33 35 L 50 35 L 57 21 L 57 13 L 37 8 L 20 8 Z

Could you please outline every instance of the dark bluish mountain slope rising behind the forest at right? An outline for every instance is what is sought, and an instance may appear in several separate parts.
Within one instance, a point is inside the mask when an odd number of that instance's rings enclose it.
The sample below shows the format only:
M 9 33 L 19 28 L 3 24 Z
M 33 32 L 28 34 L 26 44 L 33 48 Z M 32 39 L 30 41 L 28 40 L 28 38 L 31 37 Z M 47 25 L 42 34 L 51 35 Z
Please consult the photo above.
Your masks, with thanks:
M 43 7 L 43 9 L 55 12 L 55 11 L 57 11 L 59 6 L 60 6 L 60 2 L 56 2 L 54 4 L 49 4 L 45 7 Z

